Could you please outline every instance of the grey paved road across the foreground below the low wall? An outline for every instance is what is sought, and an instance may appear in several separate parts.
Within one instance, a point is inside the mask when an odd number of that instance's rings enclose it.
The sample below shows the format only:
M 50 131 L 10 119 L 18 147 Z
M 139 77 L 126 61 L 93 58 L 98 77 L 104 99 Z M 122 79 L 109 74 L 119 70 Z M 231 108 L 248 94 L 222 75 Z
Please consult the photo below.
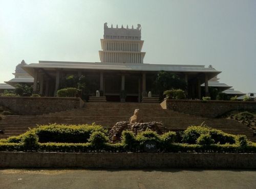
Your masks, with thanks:
M 0 188 L 256 188 L 256 170 L 0 170 Z

